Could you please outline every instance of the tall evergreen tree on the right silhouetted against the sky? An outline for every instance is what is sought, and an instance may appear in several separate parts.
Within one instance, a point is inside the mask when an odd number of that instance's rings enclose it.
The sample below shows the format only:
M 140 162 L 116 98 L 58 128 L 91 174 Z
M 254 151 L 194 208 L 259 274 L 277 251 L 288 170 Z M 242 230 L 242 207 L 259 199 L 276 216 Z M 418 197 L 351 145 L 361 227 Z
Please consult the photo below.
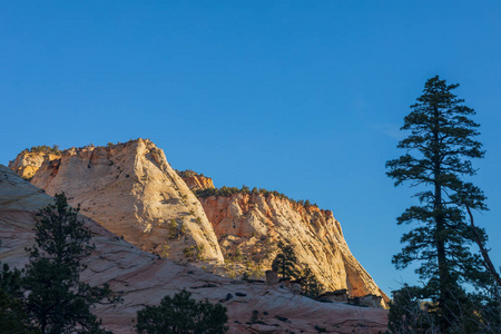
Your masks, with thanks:
M 470 119 L 474 110 L 452 92 L 458 86 L 438 76 L 426 81 L 404 118 L 402 130 L 410 135 L 397 147 L 406 154 L 386 163 L 395 186 L 406 181 L 416 187 L 421 204 L 397 218 L 399 225 L 418 226 L 403 235 L 405 246 L 393 263 L 397 268 L 421 263 L 416 273 L 426 283 L 426 297 L 436 303 L 443 333 L 451 328 L 459 305 L 468 304 L 462 284 L 485 277 L 479 256 L 470 250 L 473 234 L 463 212 L 464 200 L 471 208 L 487 209 L 482 191 L 465 180 L 475 174 L 471 159 L 484 153 L 475 139 L 479 125 Z M 478 233 L 485 238 L 482 229 Z

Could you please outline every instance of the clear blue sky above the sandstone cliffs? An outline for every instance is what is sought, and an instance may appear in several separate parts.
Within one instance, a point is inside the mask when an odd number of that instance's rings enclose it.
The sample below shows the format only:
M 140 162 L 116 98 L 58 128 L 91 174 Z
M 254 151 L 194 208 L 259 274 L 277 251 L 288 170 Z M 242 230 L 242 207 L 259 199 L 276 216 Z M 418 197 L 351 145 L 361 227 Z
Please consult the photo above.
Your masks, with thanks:
M 478 111 L 501 265 L 500 1 L 0 1 L 0 163 L 149 138 L 177 169 L 334 212 L 386 291 L 413 204 L 384 163 L 440 75 Z M 497 255 L 498 254 L 498 255 Z

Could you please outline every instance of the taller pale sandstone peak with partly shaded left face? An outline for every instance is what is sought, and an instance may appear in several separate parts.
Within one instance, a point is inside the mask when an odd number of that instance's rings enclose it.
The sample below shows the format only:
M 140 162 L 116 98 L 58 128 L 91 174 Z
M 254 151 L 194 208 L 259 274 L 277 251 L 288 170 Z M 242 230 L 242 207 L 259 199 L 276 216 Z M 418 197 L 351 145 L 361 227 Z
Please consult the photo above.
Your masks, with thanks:
M 45 159 L 31 183 L 49 195 L 65 191 L 85 215 L 144 250 L 223 262 L 199 202 L 149 140 L 63 150 Z

